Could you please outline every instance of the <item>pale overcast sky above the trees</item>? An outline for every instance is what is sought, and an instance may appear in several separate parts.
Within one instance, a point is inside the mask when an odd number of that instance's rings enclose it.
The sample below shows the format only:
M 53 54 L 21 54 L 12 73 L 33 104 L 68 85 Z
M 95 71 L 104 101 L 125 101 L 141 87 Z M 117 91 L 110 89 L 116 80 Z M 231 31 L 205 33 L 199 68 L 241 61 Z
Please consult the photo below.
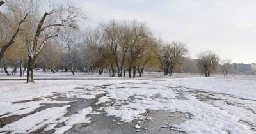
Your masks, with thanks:
M 164 41 L 182 41 L 195 58 L 213 50 L 234 63 L 256 63 L 255 0 L 75 0 L 95 27 L 108 20 L 146 22 Z

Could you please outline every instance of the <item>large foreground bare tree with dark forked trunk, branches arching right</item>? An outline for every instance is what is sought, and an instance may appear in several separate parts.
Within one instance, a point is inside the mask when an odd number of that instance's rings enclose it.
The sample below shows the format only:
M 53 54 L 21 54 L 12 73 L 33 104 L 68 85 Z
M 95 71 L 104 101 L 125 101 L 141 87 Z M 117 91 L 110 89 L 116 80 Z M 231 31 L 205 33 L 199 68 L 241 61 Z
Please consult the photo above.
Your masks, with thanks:
M 52 6 L 51 11 L 45 12 L 42 15 L 36 26 L 36 33 L 27 38 L 27 82 L 34 82 L 33 70 L 35 68 L 36 58 L 47 44 L 47 41 L 58 36 L 60 27 L 76 28 L 76 20 L 83 17 L 81 11 L 70 4 L 67 7 L 63 7 L 62 5 L 59 5 L 58 8 L 55 7 Z

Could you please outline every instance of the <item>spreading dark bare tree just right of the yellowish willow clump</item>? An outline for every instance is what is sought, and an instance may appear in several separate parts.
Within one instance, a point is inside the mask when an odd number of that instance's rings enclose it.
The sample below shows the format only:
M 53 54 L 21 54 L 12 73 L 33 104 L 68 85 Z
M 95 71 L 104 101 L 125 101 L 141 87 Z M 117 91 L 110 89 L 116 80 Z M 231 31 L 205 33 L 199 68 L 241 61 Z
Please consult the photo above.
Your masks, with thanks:
M 188 50 L 183 43 L 175 42 L 166 43 L 159 49 L 159 61 L 164 70 L 164 75 L 172 75 L 173 68 L 176 64 L 184 60 Z

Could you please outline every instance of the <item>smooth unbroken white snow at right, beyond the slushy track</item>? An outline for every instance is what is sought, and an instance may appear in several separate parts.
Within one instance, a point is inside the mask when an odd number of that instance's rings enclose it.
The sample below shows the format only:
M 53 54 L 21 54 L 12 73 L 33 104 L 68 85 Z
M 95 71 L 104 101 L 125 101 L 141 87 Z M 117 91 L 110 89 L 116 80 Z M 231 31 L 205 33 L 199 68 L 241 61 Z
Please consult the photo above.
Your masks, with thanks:
M 168 81 L 168 84 L 182 86 L 214 93 L 225 93 L 230 96 L 256 100 L 256 80 L 223 78 L 223 77 L 193 77 L 179 78 Z

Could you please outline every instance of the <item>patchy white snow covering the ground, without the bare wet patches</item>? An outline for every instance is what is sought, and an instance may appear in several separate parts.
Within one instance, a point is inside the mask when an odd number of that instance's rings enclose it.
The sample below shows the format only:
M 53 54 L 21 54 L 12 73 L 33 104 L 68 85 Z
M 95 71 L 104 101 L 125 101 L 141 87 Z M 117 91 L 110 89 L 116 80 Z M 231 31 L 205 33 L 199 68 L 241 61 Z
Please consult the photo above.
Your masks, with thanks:
M 53 76 L 61 78 L 65 74 Z M 40 78 L 52 77 L 41 75 Z M 68 78 L 74 77 L 68 75 Z M 90 123 L 92 119 L 86 116 L 93 114 L 92 107 L 64 117 L 67 107 L 70 107 L 69 104 L 73 101 L 56 101 L 52 98 L 62 96 L 86 101 L 97 98 L 99 94 L 102 94 L 102 97 L 95 101 L 97 101 L 96 104 L 102 103 L 100 112 L 104 112 L 106 116 L 118 117 L 123 122 L 130 123 L 139 118 L 148 119 L 143 116 L 147 110 L 168 110 L 186 113 L 186 117 L 191 117 L 184 123 L 175 125 L 177 130 L 186 133 L 214 134 L 227 133 L 227 131 L 234 134 L 255 133 L 250 130 L 248 124 L 241 122 L 245 121 L 256 126 L 255 78 L 150 76 L 129 79 L 92 77 L 82 74 L 77 78 L 83 80 L 38 80 L 36 84 L 0 81 L 0 118 L 28 114 L 47 103 L 64 105 L 47 108 L 23 117 L 0 128 L 0 133 L 1 131 L 28 133 L 40 128 L 64 133 L 76 124 Z M 191 91 L 207 91 L 224 95 L 210 96 L 209 98 L 218 101 L 207 103 L 193 96 Z M 181 97 L 184 99 L 179 99 Z M 33 101 L 19 102 L 24 100 Z M 169 116 L 173 117 L 173 115 Z M 58 123 L 64 123 L 65 126 L 54 128 Z M 159 127 L 161 127 L 160 124 Z

